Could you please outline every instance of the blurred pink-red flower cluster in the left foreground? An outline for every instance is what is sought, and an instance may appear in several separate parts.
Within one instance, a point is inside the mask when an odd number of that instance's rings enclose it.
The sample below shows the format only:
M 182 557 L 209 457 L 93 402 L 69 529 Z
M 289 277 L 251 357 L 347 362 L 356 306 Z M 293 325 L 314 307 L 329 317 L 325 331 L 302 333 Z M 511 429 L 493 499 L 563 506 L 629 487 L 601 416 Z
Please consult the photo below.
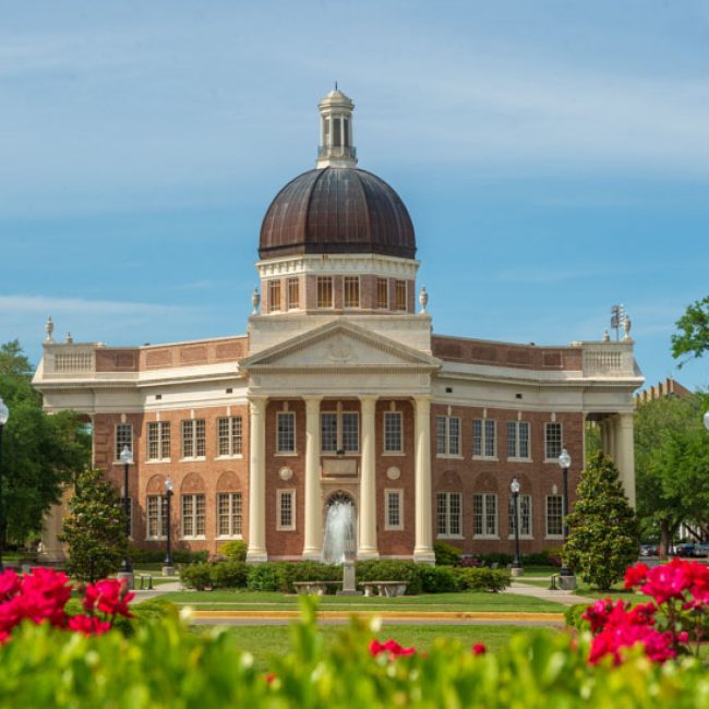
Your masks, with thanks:
M 118 616 L 131 617 L 128 604 L 134 593 L 129 593 L 124 584 L 116 579 L 86 586 L 82 603 L 85 614 L 67 612 L 71 593 L 69 577 L 51 568 L 34 568 L 24 576 L 12 569 L 0 574 L 0 642 L 9 640 L 23 621 L 101 635 Z

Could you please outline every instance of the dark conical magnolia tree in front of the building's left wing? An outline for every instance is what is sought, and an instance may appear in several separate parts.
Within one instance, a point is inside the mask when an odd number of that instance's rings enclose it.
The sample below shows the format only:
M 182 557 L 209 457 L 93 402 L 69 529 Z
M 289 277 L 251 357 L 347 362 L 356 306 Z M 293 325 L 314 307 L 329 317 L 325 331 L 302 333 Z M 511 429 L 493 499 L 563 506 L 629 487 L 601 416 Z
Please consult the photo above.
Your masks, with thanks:
M 82 472 L 59 538 L 69 545 L 69 573 L 91 582 L 116 573 L 128 553 L 125 521 L 116 488 L 104 473 Z

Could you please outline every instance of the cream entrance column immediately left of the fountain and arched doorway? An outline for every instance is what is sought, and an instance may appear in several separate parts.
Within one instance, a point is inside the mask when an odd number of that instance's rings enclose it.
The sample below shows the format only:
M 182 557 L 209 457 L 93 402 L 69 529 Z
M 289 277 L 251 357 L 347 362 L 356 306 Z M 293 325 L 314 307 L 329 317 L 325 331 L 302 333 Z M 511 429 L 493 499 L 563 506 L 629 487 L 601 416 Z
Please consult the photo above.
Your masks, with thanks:
M 303 558 L 323 555 L 323 505 L 320 483 L 320 400 L 305 397 L 305 534 Z

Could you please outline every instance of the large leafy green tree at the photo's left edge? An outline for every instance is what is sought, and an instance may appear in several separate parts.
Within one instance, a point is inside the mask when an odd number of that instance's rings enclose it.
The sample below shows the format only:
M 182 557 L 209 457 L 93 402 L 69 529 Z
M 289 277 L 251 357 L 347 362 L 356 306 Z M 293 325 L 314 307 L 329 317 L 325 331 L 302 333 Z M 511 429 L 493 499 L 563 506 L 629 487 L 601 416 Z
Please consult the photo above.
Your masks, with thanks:
M 5 529 L 0 540 L 36 536 L 62 485 L 91 461 L 91 435 L 77 416 L 49 416 L 32 386 L 33 366 L 17 340 L 0 346 L 0 397 L 10 409 L 2 435 Z

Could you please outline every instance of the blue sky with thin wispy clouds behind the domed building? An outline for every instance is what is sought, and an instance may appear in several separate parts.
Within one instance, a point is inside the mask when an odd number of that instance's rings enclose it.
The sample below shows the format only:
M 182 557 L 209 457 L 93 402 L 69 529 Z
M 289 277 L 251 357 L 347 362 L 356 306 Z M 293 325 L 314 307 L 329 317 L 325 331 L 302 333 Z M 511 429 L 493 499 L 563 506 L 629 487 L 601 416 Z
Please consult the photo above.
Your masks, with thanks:
M 648 384 L 709 293 L 709 2 L 0 0 L 0 341 L 242 333 L 317 100 L 411 212 L 434 328 L 633 319 Z

